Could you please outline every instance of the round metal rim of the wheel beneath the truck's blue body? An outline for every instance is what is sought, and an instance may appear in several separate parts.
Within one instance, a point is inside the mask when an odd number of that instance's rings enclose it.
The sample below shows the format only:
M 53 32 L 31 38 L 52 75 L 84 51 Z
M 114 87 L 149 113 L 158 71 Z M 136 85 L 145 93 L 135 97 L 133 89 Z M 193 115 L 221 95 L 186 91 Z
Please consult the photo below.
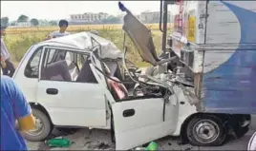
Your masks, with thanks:
M 201 120 L 193 127 L 193 136 L 198 142 L 210 143 L 220 135 L 220 127 L 211 120 Z

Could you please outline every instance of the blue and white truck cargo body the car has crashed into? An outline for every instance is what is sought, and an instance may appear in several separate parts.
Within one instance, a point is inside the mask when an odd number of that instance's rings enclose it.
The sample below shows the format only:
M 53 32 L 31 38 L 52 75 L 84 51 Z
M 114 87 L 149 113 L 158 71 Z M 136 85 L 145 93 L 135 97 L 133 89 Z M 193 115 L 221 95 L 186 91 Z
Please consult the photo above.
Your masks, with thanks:
M 180 1 L 178 9 L 170 47 L 195 85 L 198 110 L 255 114 L 256 1 Z

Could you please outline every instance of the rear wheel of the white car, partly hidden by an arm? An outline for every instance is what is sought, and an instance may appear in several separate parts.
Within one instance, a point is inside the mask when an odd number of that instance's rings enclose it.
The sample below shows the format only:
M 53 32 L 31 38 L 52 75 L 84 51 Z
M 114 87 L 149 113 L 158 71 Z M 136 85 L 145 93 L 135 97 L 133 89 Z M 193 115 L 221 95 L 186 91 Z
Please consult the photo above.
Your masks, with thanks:
M 31 142 L 44 141 L 53 130 L 50 119 L 42 111 L 32 108 L 32 115 L 35 118 L 35 129 L 22 132 L 23 137 Z

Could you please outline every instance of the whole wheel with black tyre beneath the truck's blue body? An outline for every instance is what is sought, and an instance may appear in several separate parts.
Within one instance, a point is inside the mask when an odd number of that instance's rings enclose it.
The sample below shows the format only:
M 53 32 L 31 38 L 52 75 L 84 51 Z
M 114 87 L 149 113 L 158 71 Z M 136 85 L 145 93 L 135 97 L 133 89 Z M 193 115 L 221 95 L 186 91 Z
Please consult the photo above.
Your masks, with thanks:
M 186 135 L 192 145 L 217 146 L 224 142 L 226 133 L 222 120 L 214 116 L 197 116 L 187 124 Z

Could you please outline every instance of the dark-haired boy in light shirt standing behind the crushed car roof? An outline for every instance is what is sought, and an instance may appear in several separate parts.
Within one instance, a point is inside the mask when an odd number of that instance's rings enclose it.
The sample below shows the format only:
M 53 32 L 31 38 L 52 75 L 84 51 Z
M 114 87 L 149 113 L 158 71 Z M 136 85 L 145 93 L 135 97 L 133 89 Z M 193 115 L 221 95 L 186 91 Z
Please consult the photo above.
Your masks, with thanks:
M 67 20 L 60 20 L 58 23 L 59 30 L 53 31 L 50 33 L 47 39 L 57 38 L 69 35 L 70 33 L 66 31 L 69 27 L 69 22 Z

